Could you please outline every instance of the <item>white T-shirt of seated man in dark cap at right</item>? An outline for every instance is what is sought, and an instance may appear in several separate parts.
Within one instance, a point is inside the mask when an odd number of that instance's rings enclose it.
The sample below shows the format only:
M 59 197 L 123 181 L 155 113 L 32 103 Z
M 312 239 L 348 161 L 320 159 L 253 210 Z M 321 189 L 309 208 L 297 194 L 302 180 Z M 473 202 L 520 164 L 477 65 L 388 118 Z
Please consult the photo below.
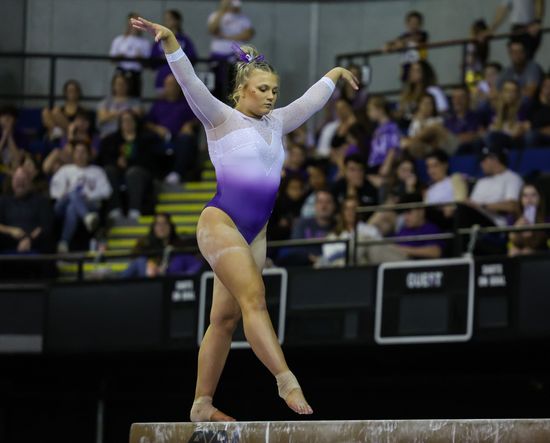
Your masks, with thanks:
M 515 172 L 506 169 L 504 172 L 477 181 L 470 199 L 479 204 L 499 203 L 507 200 L 517 200 L 523 180 Z M 505 225 L 506 218 L 495 215 L 497 225 Z

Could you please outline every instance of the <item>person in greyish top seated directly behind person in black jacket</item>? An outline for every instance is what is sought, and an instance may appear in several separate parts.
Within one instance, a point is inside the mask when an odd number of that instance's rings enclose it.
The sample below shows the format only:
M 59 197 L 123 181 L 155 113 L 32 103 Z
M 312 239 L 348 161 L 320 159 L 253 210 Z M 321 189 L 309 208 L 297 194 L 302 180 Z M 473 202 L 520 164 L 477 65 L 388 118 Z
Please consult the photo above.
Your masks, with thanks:
M 130 97 L 128 80 L 115 72 L 111 80 L 111 94 L 97 105 L 97 127 L 101 138 L 118 129 L 118 120 L 122 111 L 131 109 L 137 115 L 142 115 L 141 102 Z

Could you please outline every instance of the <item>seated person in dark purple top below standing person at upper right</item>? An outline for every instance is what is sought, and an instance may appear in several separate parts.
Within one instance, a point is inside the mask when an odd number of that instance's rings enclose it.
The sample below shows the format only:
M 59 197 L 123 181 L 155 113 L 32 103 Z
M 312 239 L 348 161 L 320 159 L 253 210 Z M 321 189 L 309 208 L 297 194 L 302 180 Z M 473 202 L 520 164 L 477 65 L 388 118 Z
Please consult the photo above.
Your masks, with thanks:
M 480 137 L 481 124 L 479 116 L 470 109 L 470 96 L 468 89 L 455 88 L 451 95 L 452 110 L 445 117 L 445 127 L 456 138 L 456 150 L 458 154 L 479 153 L 483 147 Z

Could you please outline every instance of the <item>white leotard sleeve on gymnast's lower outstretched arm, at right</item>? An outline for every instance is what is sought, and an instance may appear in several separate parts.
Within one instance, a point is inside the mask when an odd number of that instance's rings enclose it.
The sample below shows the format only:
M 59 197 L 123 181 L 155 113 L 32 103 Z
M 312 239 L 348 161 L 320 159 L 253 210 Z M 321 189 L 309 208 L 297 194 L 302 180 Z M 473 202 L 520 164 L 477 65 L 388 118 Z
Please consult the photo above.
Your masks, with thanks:
M 299 99 L 273 113 L 283 122 L 283 134 L 301 126 L 313 114 L 320 111 L 334 91 L 334 82 L 323 77 L 311 86 Z

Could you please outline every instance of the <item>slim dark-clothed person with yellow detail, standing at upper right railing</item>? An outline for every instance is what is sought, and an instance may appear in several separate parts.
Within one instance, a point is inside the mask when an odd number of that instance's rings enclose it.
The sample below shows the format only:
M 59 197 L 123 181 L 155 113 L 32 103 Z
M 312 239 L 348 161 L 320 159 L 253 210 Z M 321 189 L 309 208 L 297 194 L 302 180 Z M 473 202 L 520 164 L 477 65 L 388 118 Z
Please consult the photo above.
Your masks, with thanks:
M 482 79 L 489 58 L 489 28 L 485 20 L 476 20 L 470 28 L 472 42 L 466 46 L 464 83 L 472 89 Z

